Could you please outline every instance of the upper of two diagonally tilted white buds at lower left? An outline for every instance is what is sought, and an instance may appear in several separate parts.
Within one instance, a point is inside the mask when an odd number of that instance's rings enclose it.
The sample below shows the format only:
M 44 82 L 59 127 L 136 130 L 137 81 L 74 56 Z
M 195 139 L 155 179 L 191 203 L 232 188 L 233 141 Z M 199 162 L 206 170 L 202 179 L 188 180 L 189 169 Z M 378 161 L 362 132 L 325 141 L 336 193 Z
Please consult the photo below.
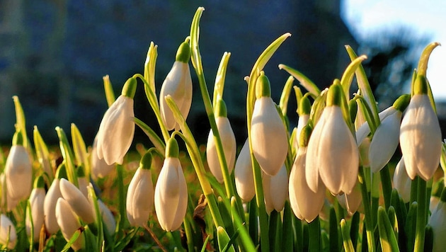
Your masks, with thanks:
M 76 185 L 73 185 L 65 178 L 60 180 L 59 186 L 62 197 L 64 197 L 64 200 L 70 205 L 73 212 L 81 217 L 82 221 L 85 223 L 93 223 L 95 219 L 93 210 L 90 202 L 88 202 L 88 199 L 84 196 L 81 190 L 76 188 Z

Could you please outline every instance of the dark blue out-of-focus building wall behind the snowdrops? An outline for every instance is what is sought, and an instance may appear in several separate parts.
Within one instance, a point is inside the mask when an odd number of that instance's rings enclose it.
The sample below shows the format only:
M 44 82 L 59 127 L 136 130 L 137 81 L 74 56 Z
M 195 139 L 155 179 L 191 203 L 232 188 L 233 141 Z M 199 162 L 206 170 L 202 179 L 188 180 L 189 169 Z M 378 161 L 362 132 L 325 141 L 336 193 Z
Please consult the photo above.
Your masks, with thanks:
M 357 47 L 341 19 L 341 0 L 213 0 L 202 4 L 200 52 L 208 89 L 212 92 L 223 53 L 231 52 L 224 100 L 240 139 L 246 136 L 244 76 L 275 38 L 292 33 L 265 67 L 277 102 L 288 77 L 278 64 L 298 69 L 325 87 L 341 78 L 350 62 L 344 45 Z M 159 92 L 197 8 L 179 0 L 0 0 L 1 142 L 8 144 L 12 137 L 15 116 L 11 97 L 18 95 L 28 137 L 33 125 L 38 125 L 44 139 L 55 141 L 54 128 L 69 132 L 69 124 L 74 122 L 87 144 L 91 143 L 106 109 L 102 76 L 110 75 L 118 96 L 128 77 L 142 73 L 149 43 L 154 41 L 159 53 Z M 206 136 L 209 127 L 203 120 L 196 79 L 193 99 L 188 123 L 198 135 Z M 142 85 L 135 109 L 136 116 L 156 130 Z

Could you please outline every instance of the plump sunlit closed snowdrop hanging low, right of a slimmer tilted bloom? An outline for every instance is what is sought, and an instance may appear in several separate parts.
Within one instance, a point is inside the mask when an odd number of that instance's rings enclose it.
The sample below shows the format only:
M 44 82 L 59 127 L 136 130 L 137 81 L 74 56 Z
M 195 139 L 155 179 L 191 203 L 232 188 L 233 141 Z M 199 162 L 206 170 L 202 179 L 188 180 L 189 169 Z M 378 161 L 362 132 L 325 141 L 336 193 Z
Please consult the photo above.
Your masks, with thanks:
M 166 145 L 166 159 L 155 186 L 155 211 L 159 225 L 166 231 L 181 227 L 188 205 L 188 188 L 178 159 L 176 139 Z

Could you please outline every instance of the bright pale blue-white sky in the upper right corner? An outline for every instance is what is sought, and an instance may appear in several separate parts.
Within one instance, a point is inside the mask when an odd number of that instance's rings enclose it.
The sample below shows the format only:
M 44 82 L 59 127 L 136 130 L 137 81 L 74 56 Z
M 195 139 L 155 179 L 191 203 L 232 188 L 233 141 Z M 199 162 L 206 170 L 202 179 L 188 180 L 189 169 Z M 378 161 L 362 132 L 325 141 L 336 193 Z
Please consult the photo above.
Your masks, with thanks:
M 344 0 L 343 17 L 352 32 L 365 37 L 377 30 L 409 26 L 417 35 L 440 42 L 428 64 L 428 79 L 436 99 L 446 100 L 446 1 Z

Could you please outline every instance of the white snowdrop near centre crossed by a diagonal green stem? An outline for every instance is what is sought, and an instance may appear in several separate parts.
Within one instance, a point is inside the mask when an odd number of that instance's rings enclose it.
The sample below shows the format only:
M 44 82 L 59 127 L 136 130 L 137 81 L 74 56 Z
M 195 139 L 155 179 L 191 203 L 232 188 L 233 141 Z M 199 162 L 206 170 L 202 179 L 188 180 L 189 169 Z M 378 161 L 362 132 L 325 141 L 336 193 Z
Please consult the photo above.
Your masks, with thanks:
M 217 101 L 217 105 L 215 106 L 215 123 L 217 124 L 220 139 L 222 139 L 224 158 L 226 159 L 226 164 L 230 175 L 234 169 L 237 145 L 234 132 L 232 131 L 231 124 L 227 118 L 226 104 L 222 99 L 219 99 L 219 101 Z M 223 183 L 224 179 L 222 167 L 220 166 L 218 159 L 217 147 L 212 129 L 207 137 L 206 158 L 212 174 L 215 176 L 215 178 L 217 178 L 219 183 Z

